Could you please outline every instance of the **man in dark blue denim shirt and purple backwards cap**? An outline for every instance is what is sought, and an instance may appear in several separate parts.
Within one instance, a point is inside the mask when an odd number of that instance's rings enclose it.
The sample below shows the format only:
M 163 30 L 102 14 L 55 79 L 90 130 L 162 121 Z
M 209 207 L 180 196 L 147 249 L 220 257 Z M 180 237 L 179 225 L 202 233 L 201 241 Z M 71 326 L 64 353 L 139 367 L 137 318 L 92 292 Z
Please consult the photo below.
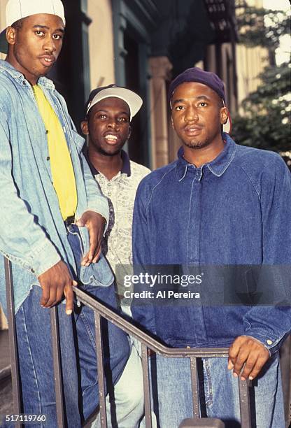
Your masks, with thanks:
M 241 376 L 253 380 L 252 426 L 283 428 L 278 348 L 291 329 L 286 275 L 291 262 L 290 172 L 276 153 L 236 145 L 222 132 L 229 115 L 224 84 L 214 73 L 187 69 L 172 81 L 169 102 L 173 129 L 183 145 L 175 162 L 150 173 L 139 185 L 134 266 L 179 264 L 183 271 L 200 266 L 201 285 L 191 279 L 187 289 L 180 290 L 195 292 L 195 297 L 198 292 L 200 299 L 189 298 L 187 304 L 171 300 L 170 306 L 153 299 L 143 306 L 134 301 L 133 317 L 176 348 L 230 347 L 228 359 L 203 361 L 202 409 L 208 417 L 222 419 L 229 428 L 238 423 L 236 378 Z M 231 276 L 229 290 L 225 282 L 220 290 L 222 278 L 233 272 L 227 265 L 257 265 L 257 283 L 249 283 L 250 266 L 236 266 L 235 275 L 239 278 L 242 271 L 243 280 L 239 284 Z M 223 270 L 218 271 L 219 266 Z M 218 273 L 211 282 L 213 271 Z M 251 290 L 271 290 L 273 300 L 262 294 L 269 306 L 251 306 L 251 298 L 241 306 L 239 299 L 211 304 L 215 295 L 235 296 L 234 287 L 242 296 L 246 280 Z M 136 291 L 141 290 L 139 285 Z M 157 355 L 156 368 L 159 424 L 178 426 L 193 415 L 190 362 Z

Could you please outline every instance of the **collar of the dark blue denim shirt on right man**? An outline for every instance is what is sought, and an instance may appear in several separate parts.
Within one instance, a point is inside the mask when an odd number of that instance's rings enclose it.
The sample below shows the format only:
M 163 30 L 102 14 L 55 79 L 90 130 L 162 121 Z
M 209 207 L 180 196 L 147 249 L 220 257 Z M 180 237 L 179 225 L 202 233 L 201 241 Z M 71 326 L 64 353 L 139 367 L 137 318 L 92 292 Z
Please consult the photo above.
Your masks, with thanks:
M 234 155 L 236 152 L 236 143 L 234 143 L 232 138 L 230 138 L 230 136 L 225 133 L 222 134 L 222 138 L 225 141 L 225 148 L 222 150 L 222 152 L 218 155 L 218 157 L 215 157 L 213 161 L 208 162 L 208 164 L 204 164 L 199 167 L 199 169 L 202 169 L 203 167 L 207 166 L 209 171 L 211 171 L 211 173 L 213 173 L 217 177 L 220 177 L 223 173 L 225 173 L 225 171 L 231 164 L 232 159 L 234 159 Z M 189 166 L 192 166 L 192 164 L 187 162 L 187 160 L 185 160 L 183 156 L 184 148 L 183 146 L 181 146 L 178 150 L 178 161 L 176 165 L 176 172 L 179 181 L 185 178 Z

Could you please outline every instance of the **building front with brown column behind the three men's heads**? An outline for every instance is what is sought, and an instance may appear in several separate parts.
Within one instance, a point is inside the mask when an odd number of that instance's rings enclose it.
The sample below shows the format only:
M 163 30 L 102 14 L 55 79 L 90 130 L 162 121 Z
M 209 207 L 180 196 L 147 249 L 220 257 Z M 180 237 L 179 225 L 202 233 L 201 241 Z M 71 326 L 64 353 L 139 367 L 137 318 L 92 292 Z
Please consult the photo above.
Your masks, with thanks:
M 171 78 L 199 64 L 227 82 L 238 106 L 234 0 L 63 0 L 64 46 L 51 77 L 76 126 L 92 88 L 124 85 L 143 98 L 127 150 L 155 169 L 176 157 L 166 92 Z M 5 27 L 6 0 L 0 5 Z

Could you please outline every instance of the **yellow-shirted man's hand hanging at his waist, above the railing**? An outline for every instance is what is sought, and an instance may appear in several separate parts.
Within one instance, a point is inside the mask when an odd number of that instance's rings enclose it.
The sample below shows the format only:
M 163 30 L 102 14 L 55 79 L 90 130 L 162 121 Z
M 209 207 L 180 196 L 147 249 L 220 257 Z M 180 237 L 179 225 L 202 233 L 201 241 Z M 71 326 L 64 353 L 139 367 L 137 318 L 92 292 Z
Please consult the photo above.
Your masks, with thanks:
M 101 241 L 104 234 L 106 220 L 102 215 L 94 211 L 85 211 L 80 217 L 77 226 L 85 226 L 89 231 L 90 248 L 87 254 L 83 257 L 82 266 L 89 266 L 91 263 L 96 263 L 101 253 Z

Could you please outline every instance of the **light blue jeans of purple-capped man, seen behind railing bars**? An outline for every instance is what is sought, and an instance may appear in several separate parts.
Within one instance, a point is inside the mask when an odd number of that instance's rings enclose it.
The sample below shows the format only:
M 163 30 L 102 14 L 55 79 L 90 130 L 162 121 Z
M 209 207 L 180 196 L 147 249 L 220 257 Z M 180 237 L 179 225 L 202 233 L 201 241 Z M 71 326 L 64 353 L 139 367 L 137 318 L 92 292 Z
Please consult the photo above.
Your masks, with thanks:
M 176 428 L 185 418 L 193 418 L 190 359 L 150 359 L 152 401 L 158 427 Z M 203 359 L 203 376 L 199 376 L 201 416 L 218 418 L 226 428 L 239 428 L 238 380 L 227 370 L 227 358 Z M 203 387 L 204 385 L 204 387 Z M 284 428 L 281 373 L 276 353 L 253 380 L 250 403 L 253 428 Z

